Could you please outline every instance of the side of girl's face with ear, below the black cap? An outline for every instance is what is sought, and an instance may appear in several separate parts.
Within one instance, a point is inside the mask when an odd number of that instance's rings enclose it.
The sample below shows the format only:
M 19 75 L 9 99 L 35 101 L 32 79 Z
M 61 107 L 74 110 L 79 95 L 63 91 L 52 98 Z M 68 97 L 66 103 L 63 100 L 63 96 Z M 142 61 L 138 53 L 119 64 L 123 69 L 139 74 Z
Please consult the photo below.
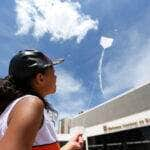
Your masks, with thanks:
M 41 95 L 46 96 L 56 91 L 56 75 L 53 67 L 46 69 L 45 73 L 38 73 L 33 80 L 33 88 Z

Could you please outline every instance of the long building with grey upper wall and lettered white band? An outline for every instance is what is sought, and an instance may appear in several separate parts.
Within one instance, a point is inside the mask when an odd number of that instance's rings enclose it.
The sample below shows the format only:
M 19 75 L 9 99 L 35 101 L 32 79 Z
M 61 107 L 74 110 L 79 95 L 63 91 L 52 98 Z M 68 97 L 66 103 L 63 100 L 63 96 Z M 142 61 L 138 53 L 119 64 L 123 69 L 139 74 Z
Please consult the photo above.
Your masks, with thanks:
M 150 84 L 71 118 L 70 130 L 79 128 L 86 149 L 150 150 Z

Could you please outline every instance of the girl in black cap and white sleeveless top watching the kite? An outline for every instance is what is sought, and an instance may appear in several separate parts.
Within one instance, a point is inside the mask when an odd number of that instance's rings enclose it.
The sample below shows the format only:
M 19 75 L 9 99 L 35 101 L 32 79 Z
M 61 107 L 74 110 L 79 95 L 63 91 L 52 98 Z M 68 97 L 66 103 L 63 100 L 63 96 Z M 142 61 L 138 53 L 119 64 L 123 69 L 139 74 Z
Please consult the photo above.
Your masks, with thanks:
M 38 50 L 19 51 L 10 61 L 9 75 L 0 79 L 0 150 L 59 150 L 50 112 L 44 99 L 56 91 L 54 65 Z M 62 150 L 81 149 L 80 134 Z

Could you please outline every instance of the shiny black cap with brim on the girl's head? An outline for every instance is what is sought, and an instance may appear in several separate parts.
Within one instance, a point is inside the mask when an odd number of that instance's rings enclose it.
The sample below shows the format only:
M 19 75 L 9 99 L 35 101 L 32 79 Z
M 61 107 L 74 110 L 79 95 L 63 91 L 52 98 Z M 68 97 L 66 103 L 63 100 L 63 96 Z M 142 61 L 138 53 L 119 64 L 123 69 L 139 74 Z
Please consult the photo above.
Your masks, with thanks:
M 52 60 L 38 50 L 19 51 L 10 61 L 9 76 L 14 79 L 25 79 L 42 69 L 60 64 L 64 59 Z

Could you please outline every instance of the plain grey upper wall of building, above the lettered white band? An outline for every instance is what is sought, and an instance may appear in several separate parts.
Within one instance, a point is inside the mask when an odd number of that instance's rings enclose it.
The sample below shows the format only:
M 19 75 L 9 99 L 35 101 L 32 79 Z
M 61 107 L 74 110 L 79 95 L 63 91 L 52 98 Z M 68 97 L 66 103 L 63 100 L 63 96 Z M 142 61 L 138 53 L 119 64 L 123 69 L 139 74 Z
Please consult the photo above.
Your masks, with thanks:
M 131 90 L 71 119 L 71 128 L 90 127 L 150 109 L 150 84 Z

